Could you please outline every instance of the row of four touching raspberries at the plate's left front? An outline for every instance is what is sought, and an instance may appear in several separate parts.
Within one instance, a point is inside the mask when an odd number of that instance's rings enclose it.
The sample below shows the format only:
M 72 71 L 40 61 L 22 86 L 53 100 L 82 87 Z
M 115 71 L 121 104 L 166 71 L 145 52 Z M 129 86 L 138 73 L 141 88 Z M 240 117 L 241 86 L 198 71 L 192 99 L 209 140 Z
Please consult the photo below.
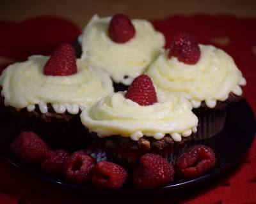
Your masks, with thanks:
M 41 164 L 45 173 L 63 176 L 76 184 L 92 181 L 98 187 L 121 187 L 127 179 L 127 171 L 108 161 L 97 161 L 80 150 L 71 156 L 66 150 L 51 150 L 33 132 L 22 132 L 11 144 L 13 155 L 29 163 Z

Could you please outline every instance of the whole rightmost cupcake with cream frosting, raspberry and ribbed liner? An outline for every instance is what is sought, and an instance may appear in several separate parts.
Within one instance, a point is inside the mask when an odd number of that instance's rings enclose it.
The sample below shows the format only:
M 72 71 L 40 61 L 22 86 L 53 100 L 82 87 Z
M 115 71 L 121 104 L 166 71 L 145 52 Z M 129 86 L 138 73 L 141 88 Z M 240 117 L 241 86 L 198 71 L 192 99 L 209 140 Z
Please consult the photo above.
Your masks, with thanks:
M 212 45 L 200 45 L 188 33 L 179 33 L 171 48 L 147 71 L 157 89 L 179 92 L 189 99 L 198 117 L 195 140 L 216 135 L 223 129 L 227 107 L 241 98 L 246 84 L 234 60 Z

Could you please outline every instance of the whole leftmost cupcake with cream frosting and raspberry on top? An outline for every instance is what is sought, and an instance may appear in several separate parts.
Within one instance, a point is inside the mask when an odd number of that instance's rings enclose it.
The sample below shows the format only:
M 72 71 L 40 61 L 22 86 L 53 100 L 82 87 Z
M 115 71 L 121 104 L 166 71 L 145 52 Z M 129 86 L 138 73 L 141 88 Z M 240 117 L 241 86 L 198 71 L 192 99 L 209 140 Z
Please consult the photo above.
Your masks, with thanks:
M 82 145 L 76 140 L 84 133 L 81 110 L 113 92 L 108 75 L 77 60 L 67 43 L 51 57 L 34 55 L 8 66 L 0 85 L 1 104 L 17 121 L 17 131 L 35 131 L 52 147 L 68 149 Z

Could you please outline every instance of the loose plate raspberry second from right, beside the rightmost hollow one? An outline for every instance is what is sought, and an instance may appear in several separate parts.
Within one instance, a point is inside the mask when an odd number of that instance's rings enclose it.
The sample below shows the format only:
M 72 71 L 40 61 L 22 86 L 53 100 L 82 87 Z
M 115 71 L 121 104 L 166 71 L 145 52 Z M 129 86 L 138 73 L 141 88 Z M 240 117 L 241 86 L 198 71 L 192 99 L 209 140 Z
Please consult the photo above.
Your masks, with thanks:
M 173 175 L 172 164 L 157 154 L 147 153 L 140 158 L 140 166 L 134 171 L 133 182 L 144 189 L 165 186 L 172 182 Z

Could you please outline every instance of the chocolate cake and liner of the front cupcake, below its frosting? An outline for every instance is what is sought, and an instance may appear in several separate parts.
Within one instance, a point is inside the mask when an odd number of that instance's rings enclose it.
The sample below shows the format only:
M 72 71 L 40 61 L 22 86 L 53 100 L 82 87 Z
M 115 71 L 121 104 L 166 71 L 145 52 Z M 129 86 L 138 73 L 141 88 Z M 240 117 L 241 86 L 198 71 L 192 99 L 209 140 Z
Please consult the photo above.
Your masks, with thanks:
M 133 141 L 122 136 L 111 136 L 99 141 L 102 143 L 109 161 L 134 171 L 140 162 L 140 157 L 146 153 L 159 154 L 170 163 L 175 164 L 177 158 L 186 149 L 188 140 L 188 138 L 182 138 L 181 142 L 174 142 L 168 135 L 161 140 L 144 136 L 138 141 Z

